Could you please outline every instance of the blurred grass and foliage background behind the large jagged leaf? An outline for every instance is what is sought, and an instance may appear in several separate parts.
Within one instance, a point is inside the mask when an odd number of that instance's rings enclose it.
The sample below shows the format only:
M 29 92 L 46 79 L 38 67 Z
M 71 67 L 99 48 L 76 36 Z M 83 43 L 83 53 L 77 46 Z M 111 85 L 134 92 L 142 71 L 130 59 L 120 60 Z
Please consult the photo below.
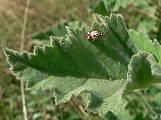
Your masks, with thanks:
M 20 49 L 25 7 L 26 0 L 0 0 L 0 120 L 23 120 L 20 81 L 10 73 L 2 49 Z M 65 26 L 90 27 L 93 13 L 111 12 L 122 14 L 128 28 L 161 43 L 159 0 L 31 0 L 24 49 L 49 44 L 50 35 L 64 36 Z M 80 98 L 55 106 L 49 91 L 25 91 L 25 95 L 29 120 L 102 120 L 84 111 Z M 161 116 L 160 87 L 136 91 L 126 100 L 132 120 L 161 120 L 157 117 Z

